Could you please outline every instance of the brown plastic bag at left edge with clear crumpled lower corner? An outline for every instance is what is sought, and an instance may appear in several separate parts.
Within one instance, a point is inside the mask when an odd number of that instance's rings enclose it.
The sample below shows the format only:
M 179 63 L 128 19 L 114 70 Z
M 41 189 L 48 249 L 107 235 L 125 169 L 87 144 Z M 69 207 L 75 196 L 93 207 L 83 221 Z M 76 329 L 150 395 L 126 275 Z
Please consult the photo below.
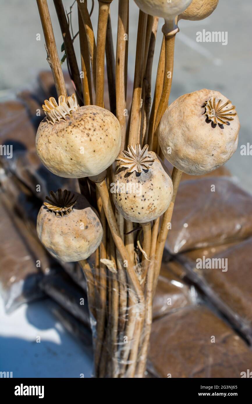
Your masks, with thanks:
M 0 292 L 7 313 L 44 295 L 39 288 L 43 276 L 41 269 L 49 271 L 50 260 L 39 242 L 32 237 L 24 238 L 28 233 L 22 221 L 19 221 L 18 231 L 0 204 Z M 41 267 L 36 266 L 38 259 Z

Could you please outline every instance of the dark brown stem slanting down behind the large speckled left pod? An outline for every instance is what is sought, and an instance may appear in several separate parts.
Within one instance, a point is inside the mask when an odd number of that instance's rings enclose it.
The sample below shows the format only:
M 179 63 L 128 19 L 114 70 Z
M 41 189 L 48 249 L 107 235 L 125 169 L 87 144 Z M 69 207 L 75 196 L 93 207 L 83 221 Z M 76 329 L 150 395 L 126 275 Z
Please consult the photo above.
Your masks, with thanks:
M 55 10 L 57 13 L 57 17 L 59 20 L 59 25 L 61 29 L 61 33 L 64 40 L 64 46 L 66 51 L 66 57 L 68 59 L 68 64 L 71 72 L 71 78 L 74 82 L 74 86 L 76 88 L 76 97 L 79 105 L 83 105 L 83 97 L 82 97 L 82 85 L 80 80 L 80 73 L 78 69 L 78 64 L 74 52 L 74 46 L 71 38 L 71 34 L 69 31 L 68 21 L 66 19 L 66 14 L 64 10 L 64 6 L 62 4 L 62 0 L 53 0 Z

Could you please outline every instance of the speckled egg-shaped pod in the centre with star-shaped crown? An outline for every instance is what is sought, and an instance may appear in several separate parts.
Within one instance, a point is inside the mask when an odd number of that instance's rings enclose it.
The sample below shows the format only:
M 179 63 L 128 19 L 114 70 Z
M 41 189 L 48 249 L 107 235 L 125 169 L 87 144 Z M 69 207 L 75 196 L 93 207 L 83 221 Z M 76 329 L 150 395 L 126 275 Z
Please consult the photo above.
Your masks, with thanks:
M 110 191 L 119 212 L 129 221 L 146 223 L 168 208 L 173 195 L 169 171 L 148 145 L 131 145 L 117 159 L 119 170 Z

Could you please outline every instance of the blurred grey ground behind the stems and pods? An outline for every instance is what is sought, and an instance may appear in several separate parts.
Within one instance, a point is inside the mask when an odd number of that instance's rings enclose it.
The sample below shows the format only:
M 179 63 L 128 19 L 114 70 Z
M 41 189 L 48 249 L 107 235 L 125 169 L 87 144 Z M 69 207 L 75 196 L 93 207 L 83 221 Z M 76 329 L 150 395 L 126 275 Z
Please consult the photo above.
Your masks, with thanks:
M 63 0 L 69 10 L 73 0 Z M 91 0 L 88 0 L 91 4 Z M 48 0 L 55 39 L 60 52 L 62 37 L 57 22 L 53 0 Z M 97 0 L 92 15 L 97 24 Z M 35 0 L 0 0 L 1 6 L 1 64 L 0 99 L 13 97 L 17 89 L 32 88 L 41 69 L 47 69 L 44 38 Z M 111 5 L 111 18 L 116 34 L 118 2 Z M 252 144 L 251 132 L 251 0 L 220 0 L 216 11 L 203 21 L 180 21 L 180 33 L 176 36 L 174 78 L 171 101 L 184 93 L 210 88 L 231 99 L 241 122 L 239 146 L 227 166 L 241 185 L 252 192 L 252 156 L 241 156 L 240 145 Z M 76 4 L 72 23 L 77 31 Z M 154 61 L 153 86 L 161 44 L 161 25 L 157 38 Z M 133 79 L 138 25 L 138 9 L 130 0 L 129 77 Z M 198 43 L 196 33 L 223 31 L 228 33 L 228 43 Z M 36 40 L 36 34 L 41 40 Z M 114 44 L 116 38 L 114 36 Z M 75 42 L 78 53 L 78 38 Z M 66 68 L 66 65 L 64 66 Z

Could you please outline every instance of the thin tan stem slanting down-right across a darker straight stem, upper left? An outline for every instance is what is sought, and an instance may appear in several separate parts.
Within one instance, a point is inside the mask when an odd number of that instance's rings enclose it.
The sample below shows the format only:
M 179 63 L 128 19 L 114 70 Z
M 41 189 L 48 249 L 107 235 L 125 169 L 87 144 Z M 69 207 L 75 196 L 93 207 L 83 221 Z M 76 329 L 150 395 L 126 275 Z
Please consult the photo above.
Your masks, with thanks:
M 93 27 L 91 23 L 91 19 L 89 16 L 89 12 L 87 9 L 87 3 L 82 2 L 81 0 L 77 0 L 78 9 L 80 10 L 81 18 L 83 21 L 83 25 L 85 27 L 86 35 L 87 35 L 87 43 L 89 48 L 89 56 L 93 74 L 93 86 L 95 89 L 95 80 L 96 80 L 96 45 L 95 45 L 95 36 L 93 33 Z

